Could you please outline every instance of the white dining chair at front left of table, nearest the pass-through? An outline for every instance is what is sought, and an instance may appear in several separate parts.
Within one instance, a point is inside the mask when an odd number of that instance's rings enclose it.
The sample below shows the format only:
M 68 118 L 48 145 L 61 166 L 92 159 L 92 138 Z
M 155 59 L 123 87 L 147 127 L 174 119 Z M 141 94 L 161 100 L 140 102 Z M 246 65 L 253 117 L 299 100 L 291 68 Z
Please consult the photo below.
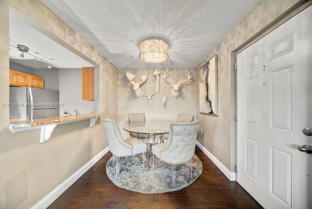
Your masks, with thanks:
M 146 145 L 142 141 L 134 137 L 124 140 L 118 126 L 116 125 L 115 120 L 105 118 L 103 120 L 103 123 L 107 134 L 109 149 L 116 160 L 116 175 L 119 175 L 120 173 L 120 157 L 143 153 L 144 161 Z

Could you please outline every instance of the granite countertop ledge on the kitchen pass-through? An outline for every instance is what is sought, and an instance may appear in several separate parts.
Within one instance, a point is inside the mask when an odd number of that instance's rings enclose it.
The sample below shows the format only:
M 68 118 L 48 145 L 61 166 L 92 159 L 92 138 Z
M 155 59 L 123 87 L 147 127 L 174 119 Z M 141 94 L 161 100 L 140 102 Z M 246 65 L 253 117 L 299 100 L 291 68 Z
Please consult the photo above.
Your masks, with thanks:
M 98 117 L 101 115 L 105 115 L 105 113 L 89 113 L 89 114 L 80 114 L 79 116 L 71 115 L 71 116 L 62 116 L 62 117 L 54 117 L 54 118 L 35 119 L 35 120 L 28 120 L 28 121 L 17 121 L 16 119 L 12 119 L 10 120 L 10 125 L 19 126 L 19 127 L 31 127 L 31 126 L 66 122 L 66 121 L 81 120 L 81 119 L 86 119 L 86 118 Z

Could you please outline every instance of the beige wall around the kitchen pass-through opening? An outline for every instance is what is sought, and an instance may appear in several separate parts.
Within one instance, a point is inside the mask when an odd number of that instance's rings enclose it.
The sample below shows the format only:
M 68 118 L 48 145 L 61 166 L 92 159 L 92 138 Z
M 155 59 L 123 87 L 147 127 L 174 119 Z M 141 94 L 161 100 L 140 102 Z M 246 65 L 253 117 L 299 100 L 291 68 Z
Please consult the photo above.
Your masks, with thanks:
M 0 104 L 9 102 L 9 4 L 40 32 L 99 65 L 99 109 L 117 119 L 117 68 L 39 0 L 0 0 Z M 8 108 L 0 106 L 0 115 L 1 209 L 30 208 L 108 146 L 100 119 L 93 128 L 89 120 L 58 125 L 40 144 L 40 129 L 12 133 Z

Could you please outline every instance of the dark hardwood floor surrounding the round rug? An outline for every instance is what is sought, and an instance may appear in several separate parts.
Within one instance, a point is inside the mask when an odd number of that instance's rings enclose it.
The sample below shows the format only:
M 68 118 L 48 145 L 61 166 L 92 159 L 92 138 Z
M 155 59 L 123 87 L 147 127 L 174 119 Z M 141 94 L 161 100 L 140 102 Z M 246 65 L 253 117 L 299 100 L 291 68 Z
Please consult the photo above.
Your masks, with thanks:
M 49 209 L 259 209 L 236 182 L 231 182 L 196 146 L 201 176 L 189 187 L 162 194 L 141 194 L 115 186 L 106 175 L 108 152 L 68 188 Z

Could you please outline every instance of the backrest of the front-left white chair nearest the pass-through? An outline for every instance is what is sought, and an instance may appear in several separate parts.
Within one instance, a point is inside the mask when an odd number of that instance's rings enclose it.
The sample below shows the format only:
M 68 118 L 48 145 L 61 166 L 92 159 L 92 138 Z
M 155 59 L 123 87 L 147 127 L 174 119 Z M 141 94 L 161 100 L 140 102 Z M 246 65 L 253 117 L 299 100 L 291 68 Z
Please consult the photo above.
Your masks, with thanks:
M 124 142 L 115 120 L 105 118 L 103 123 L 107 134 L 108 146 L 112 154 L 120 157 L 132 155 L 132 147 Z

